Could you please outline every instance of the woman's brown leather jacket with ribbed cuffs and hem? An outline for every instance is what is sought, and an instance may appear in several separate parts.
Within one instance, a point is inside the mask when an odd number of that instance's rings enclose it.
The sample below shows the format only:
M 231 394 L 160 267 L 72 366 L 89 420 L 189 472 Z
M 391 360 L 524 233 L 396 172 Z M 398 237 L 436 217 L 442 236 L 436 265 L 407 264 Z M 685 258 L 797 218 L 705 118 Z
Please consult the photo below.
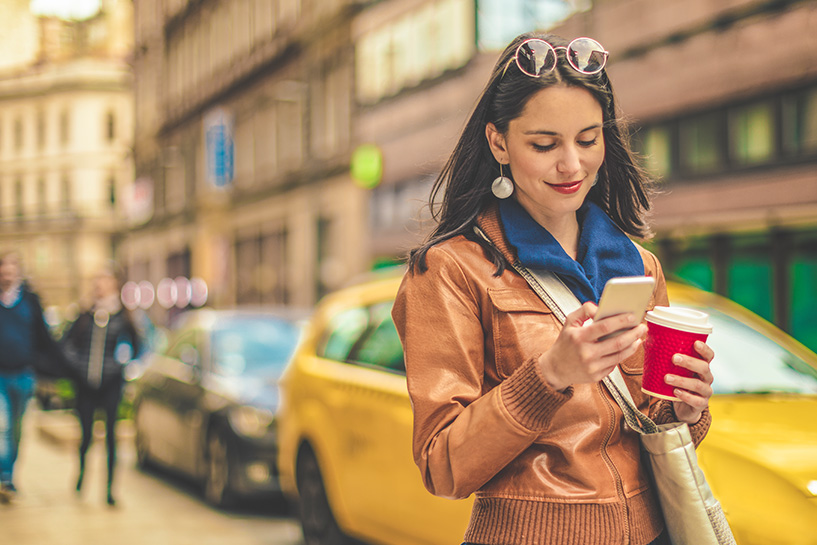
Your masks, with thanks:
M 479 227 L 509 262 L 496 206 Z M 663 272 L 650 308 L 666 305 Z M 525 280 L 495 266 L 459 236 L 434 246 L 428 271 L 407 274 L 393 317 L 403 342 L 414 408 L 414 459 L 432 493 L 475 494 L 465 540 L 484 544 L 649 543 L 663 528 L 639 461 L 638 436 L 601 383 L 552 389 L 538 356 L 561 330 Z M 643 353 L 622 362 L 636 403 L 659 423 L 672 404 L 641 392 Z M 704 413 L 691 426 L 700 443 Z

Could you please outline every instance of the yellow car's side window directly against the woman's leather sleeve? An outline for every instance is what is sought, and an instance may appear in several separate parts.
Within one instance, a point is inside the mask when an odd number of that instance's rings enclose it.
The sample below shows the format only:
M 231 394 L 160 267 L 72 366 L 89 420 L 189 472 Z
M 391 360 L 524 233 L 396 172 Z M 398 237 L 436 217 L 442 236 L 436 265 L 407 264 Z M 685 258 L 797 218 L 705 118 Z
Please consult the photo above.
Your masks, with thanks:
M 351 354 L 352 361 L 405 372 L 403 346 L 391 318 L 391 308 L 392 303 L 388 302 L 369 309 L 369 328 Z

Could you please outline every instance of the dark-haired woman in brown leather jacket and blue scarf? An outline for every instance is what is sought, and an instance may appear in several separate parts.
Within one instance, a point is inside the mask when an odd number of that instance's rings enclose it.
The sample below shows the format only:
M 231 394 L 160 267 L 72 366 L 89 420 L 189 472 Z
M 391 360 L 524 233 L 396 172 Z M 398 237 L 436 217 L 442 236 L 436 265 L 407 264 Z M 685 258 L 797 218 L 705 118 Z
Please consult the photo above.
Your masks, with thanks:
M 612 277 L 655 279 L 643 237 L 648 179 L 616 118 L 607 52 L 589 38 L 517 37 L 432 191 L 436 229 L 409 256 L 393 316 L 414 407 L 414 457 L 434 494 L 475 494 L 468 543 L 668 543 L 639 439 L 600 383 L 620 364 L 639 408 L 706 434 L 712 350 L 640 390 L 646 326 L 589 321 Z M 547 268 L 583 303 L 564 326 L 511 267 Z M 679 356 L 676 356 L 676 360 Z

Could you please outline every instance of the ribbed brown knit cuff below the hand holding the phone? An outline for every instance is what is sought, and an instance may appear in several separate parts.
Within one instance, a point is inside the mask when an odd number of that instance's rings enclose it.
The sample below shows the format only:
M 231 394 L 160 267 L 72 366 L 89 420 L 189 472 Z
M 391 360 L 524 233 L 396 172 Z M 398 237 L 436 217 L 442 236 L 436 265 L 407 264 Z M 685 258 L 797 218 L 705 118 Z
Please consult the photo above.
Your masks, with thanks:
M 529 430 L 543 429 L 562 405 L 573 397 L 573 387 L 554 390 L 542 376 L 538 357 L 522 364 L 500 386 L 500 397 L 508 412 Z

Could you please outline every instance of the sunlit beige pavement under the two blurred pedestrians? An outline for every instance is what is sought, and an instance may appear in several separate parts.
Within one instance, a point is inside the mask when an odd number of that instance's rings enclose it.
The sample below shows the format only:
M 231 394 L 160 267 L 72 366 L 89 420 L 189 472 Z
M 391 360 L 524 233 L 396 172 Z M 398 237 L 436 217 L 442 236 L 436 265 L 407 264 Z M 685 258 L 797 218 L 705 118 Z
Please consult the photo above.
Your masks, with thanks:
M 106 503 L 103 441 L 91 446 L 82 493 L 75 490 L 80 430 L 70 411 L 32 404 L 23 427 L 15 467 L 20 492 L 0 504 L 0 544 L 303 545 L 300 525 L 285 514 L 219 511 L 187 481 L 136 469 L 128 421 L 117 427 L 115 507 Z

